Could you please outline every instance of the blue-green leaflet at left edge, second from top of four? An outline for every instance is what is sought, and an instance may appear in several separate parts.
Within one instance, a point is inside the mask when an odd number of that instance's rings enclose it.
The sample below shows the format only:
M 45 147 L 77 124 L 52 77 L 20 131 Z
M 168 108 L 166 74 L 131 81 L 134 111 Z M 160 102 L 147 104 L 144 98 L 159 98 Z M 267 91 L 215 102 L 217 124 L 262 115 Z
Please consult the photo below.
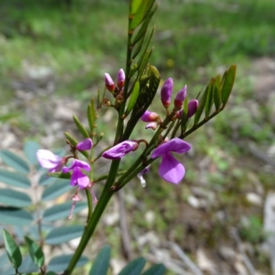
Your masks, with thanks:
M 21 188 L 29 188 L 30 180 L 19 173 L 10 172 L 9 170 L 0 169 L 0 181 L 9 186 L 16 186 Z

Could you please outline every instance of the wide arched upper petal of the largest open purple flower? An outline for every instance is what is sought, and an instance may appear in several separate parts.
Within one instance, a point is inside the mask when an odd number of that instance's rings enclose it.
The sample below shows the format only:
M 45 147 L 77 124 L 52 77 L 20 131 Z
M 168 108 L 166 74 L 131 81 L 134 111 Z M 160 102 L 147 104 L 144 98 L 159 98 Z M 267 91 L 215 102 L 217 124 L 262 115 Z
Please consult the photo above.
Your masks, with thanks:
M 155 159 L 156 157 L 159 157 L 159 155 L 163 155 L 170 151 L 176 153 L 186 153 L 190 150 L 190 148 L 191 145 L 188 142 L 184 142 L 184 140 L 175 137 L 173 140 L 165 142 L 155 148 L 155 151 L 152 154 L 152 158 Z

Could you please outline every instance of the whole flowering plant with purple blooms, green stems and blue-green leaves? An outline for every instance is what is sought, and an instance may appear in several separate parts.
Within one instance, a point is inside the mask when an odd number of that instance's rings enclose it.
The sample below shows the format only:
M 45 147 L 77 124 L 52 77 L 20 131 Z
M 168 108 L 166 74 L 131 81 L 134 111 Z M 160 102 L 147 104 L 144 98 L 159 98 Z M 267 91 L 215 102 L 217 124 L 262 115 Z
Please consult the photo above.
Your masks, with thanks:
M 47 274 L 63 272 L 63 274 L 69 275 L 72 274 L 76 265 L 86 263 L 88 259 L 82 256 L 83 251 L 96 230 L 96 225 L 111 197 L 134 177 L 138 177 L 142 187 L 146 187 L 144 175 L 150 173 L 149 167 L 159 157 L 162 158 L 158 169 L 159 177 L 172 184 L 179 184 L 184 179 L 186 170 L 183 164 L 173 156 L 173 153 L 188 152 L 191 149 L 191 144 L 185 142 L 184 138 L 221 112 L 228 101 L 236 73 L 234 65 L 223 74 L 222 78 L 221 76 L 212 78 L 205 91 L 196 99 L 188 99 L 186 86 L 173 95 L 172 78 L 168 78 L 160 88 L 160 97 L 156 96 L 161 78 L 157 68 L 148 63 L 153 52 L 153 48 L 150 48 L 153 31 L 151 34 L 147 34 L 148 23 L 156 9 L 157 4 L 152 0 L 131 1 L 125 71 L 124 69 L 118 70 L 116 83 L 108 73 L 104 74 L 104 91 L 102 94 L 98 94 L 97 99 L 91 98 L 91 102 L 87 106 L 89 128 L 74 116 L 74 122 L 79 133 L 83 135 L 83 140 L 79 142 L 71 134 L 65 133 L 66 142 L 69 144 L 71 152 L 69 155 L 52 153 L 39 148 L 39 145 L 35 143 L 29 143 L 25 150 L 28 152 L 26 157 L 29 163 L 10 151 L 0 152 L 5 164 L 23 173 L 19 177 L 16 172 L 0 170 L 0 180 L 5 184 L 29 188 L 31 184 L 25 175 L 29 174 L 31 170 L 39 170 L 36 165 L 37 158 L 40 166 L 47 169 L 47 176 L 42 175 L 37 184 L 37 186 L 46 186 L 41 197 L 42 201 L 58 197 L 69 188 L 74 188 L 71 210 L 69 210 L 68 203 L 63 204 L 62 214 L 56 206 L 46 208 L 43 214 L 38 210 L 36 224 L 39 228 L 39 237 L 34 237 L 33 240 L 30 238 L 30 232 L 27 232 L 25 243 L 27 243 L 30 257 L 35 265 L 34 270 L 36 267 L 39 274 L 46 274 L 47 270 L 50 270 L 52 273 L 48 272 Z M 148 110 L 153 100 L 162 102 L 164 115 Z M 97 131 L 102 108 L 113 108 L 116 111 L 116 131 L 113 144 L 104 148 L 96 156 L 95 148 L 100 146 L 102 140 L 102 134 Z M 127 120 L 126 124 L 125 120 Z M 139 121 L 148 122 L 145 127 L 152 133 L 150 140 L 132 135 L 133 129 Z M 145 145 L 140 146 L 141 143 Z M 120 170 L 120 159 L 129 153 L 135 157 L 135 161 L 127 164 L 128 168 L 122 171 Z M 101 157 L 109 159 L 111 166 L 107 175 L 96 178 L 94 170 Z M 54 184 L 51 180 L 55 181 Z M 104 187 L 97 198 L 93 187 L 100 181 L 104 181 Z M 1 202 L 7 206 L 0 209 L 3 223 L 30 225 L 33 221 L 30 209 L 24 210 L 23 208 L 33 204 L 35 208 L 39 209 L 41 207 L 40 200 L 34 202 L 27 194 L 8 188 L 1 192 Z M 87 203 L 81 201 L 78 192 L 85 192 Z M 11 205 L 8 198 L 17 202 Z M 61 206 L 59 207 L 61 208 Z M 45 237 L 43 229 L 41 229 L 43 220 L 54 221 L 63 217 L 72 218 L 73 212 L 76 213 L 83 207 L 89 209 L 86 224 L 51 228 Z M 56 245 L 69 241 L 72 236 L 67 236 L 68 232 L 71 235 L 74 233 L 74 237 L 81 236 L 74 254 L 54 257 L 48 265 L 45 265 L 43 245 L 45 243 Z M 19 269 L 22 263 L 21 252 L 7 230 L 4 231 L 4 241 L 8 258 L 16 273 L 26 272 Z M 104 247 L 98 255 L 89 274 L 107 274 L 109 248 Z M 105 263 L 104 265 L 100 264 L 100 259 Z M 58 265 L 58 268 L 54 267 L 54 263 L 60 262 L 63 262 L 63 265 Z M 120 275 L 129 274 L 127 272 L 134 268 L 137 269 L 135 274 L 140 274 L 144 264 L 144 259 L 136 259 L 129 263 Z M 164 271 L 163 265 L 153 265 L 151 270 L 145 274 L 164 274 Z

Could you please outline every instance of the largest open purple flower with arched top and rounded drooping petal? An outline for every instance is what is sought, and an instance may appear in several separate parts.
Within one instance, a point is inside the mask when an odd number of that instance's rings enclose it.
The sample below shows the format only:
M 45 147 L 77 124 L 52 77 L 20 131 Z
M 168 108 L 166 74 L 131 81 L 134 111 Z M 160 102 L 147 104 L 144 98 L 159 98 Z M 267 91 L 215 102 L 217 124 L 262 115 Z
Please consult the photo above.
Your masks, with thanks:
M 179 138 L 175 137 L 169 142 L 163 143 L 155 148 L 152 158 L 162 156 L 162 163 L 159 166 L 159 175 L 162 179 L 178 184 L 184 178 L 184 166 L 173 157 L 171 151 L 176 153 L 186 153 L 191 148 L 191 145 Z

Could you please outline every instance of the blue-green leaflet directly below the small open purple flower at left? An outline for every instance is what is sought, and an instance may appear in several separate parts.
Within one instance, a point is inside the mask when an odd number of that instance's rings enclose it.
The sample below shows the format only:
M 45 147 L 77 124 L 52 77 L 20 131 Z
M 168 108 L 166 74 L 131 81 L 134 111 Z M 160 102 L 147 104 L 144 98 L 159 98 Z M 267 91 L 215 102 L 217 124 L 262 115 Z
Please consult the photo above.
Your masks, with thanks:
M 65 192 L 72 189 L 72 186 L 69 185 L 69 180 L 67 179 L 58 179 L 54 182 L 54 184 L 48 186 L 42 195 L 43 201 L 50 201 L 51 199 L 55 199 L 63 195 Z

